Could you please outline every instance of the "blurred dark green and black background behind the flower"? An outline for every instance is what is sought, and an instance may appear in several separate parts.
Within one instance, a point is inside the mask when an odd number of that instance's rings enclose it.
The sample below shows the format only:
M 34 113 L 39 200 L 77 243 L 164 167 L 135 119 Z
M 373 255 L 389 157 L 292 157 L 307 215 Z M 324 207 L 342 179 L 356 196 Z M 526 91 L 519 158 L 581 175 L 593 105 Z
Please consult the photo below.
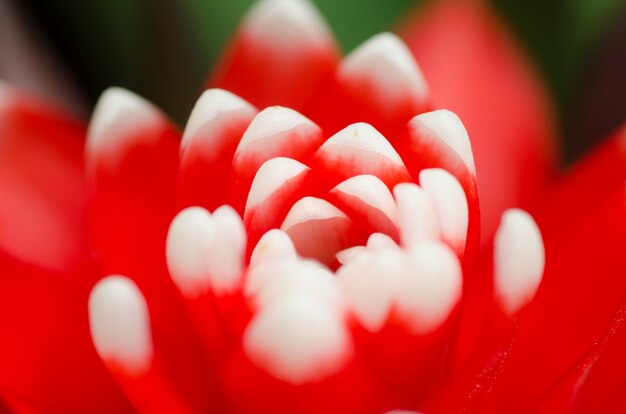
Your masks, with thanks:
M 253 0 L 0 0 L 0 79 L 81 116 L 127 87 L 183 123 Z M 313 0 L 344 51 L 418 0 Z M 626 0 L 493 0 L 539 69 L 566 160 L 626 120 Z

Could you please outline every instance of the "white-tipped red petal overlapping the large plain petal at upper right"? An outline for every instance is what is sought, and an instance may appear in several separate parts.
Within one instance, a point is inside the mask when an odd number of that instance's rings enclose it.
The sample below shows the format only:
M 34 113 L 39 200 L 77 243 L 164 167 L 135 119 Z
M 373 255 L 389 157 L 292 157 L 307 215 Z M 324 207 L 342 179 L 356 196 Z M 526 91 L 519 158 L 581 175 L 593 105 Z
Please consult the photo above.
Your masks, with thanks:
M 367 122 L 393 141 L 397 128 L 428 107 L 428 87 L 411 52 L 382 33 L 344 58 L 304 112 L 331 133 Z

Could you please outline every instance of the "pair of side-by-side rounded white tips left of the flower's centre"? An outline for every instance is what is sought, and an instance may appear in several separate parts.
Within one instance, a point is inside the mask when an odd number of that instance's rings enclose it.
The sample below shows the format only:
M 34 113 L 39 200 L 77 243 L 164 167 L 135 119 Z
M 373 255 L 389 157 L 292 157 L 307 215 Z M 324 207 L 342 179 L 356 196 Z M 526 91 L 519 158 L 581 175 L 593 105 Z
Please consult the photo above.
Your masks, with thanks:
M 239 215 L 222 206 L 211 215 L 201 207 L 181 211 L 167 235 L 167 266 L 188 297 L 209 290 L 221 295 L 241 285 L 246 232 Z

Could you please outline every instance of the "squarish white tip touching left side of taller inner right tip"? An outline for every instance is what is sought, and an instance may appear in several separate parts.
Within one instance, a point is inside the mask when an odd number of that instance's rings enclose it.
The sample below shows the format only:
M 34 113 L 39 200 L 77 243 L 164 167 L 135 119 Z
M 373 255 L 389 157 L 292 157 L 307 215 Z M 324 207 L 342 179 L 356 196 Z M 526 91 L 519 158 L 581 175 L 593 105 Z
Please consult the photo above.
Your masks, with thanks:
M 439 240 L 439 218 L 431 197 L 414 183 L 402 183 L 393 188 L 398 205 L 398 230 L 402 245 Z

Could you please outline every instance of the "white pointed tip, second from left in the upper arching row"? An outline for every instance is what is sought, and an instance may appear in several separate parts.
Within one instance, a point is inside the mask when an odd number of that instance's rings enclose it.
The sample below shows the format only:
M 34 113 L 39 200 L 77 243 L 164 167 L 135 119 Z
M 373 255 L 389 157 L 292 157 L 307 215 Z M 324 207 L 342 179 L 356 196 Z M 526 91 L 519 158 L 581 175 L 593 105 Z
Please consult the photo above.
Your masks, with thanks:
M 256 109 L 237 95 L 223 89 L 209 89 L 196 102 L 181 142 L 185 148 L 201 128 L 219 130 L 225 124 L 243 116 L 252 117 Z

